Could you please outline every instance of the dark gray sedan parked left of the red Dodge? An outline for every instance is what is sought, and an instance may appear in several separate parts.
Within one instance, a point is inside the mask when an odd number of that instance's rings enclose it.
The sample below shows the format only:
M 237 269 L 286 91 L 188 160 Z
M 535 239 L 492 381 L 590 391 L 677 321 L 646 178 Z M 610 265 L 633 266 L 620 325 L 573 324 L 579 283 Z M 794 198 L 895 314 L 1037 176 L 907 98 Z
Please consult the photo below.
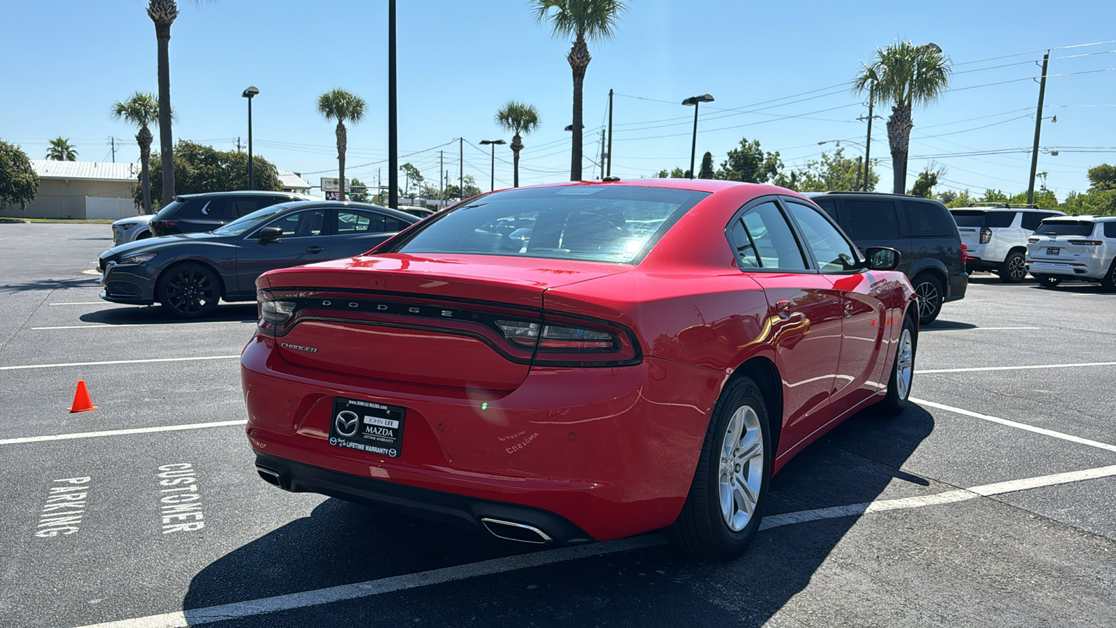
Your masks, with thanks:
M 161 303 L 173 315 L 213 314 L 219 299 L 254 301 L 273 268 L 360 255 L 419 218 L 356 202 L 299 201 L 253 211 L 220 229 L 121 245 L 100 254 L 100 298 Z

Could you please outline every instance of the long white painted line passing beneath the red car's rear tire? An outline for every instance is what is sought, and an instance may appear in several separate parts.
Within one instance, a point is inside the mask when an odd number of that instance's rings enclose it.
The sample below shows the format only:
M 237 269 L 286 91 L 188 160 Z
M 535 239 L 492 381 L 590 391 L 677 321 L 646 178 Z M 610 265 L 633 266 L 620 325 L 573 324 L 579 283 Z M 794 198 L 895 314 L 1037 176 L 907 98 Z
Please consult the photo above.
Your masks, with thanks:
M 793 523 L 818 521 L 822 518 L 837 518 L 845 516 L 857 516 L 865 513 L 894 511 L 902 508 L 916 508 L 936 504 L 950 504 L 963 502 L 981 496 L 1000 495 L 1040 486 L 1055 486 L 1080 482 L 1083 479 L 1094 479 L 1098 477 L 1116 476 L 1116 465 L 1098 467 L 1078 472 L 1060 473 L 998 484 L 985 484 L 971 488 L 959 488 L 946 491 L 935 495 L 921 497 L 904 497 L 901 499 L 881 499 L 878 502 L 867 502 L 864 504 L 852 504 L 848 506 L 835 506 L 831 508 L 818 508 L 814 511 L 801 511 L 797 513 L 785 513 L 764 517 L 760 530 L 769 530 Z M 661 534 L 648 534 L 634 539 L 622 539 L 619 541 L 608 541 L 606 543 L 595 543 L 591 545 L 575 545 L 571 548 L 559 548 L 531 554 L 520 554 L 492 559 L 468 564 L 459 564 L 417 573 L 406 573 L 403 575 L 392 575 L 379 580 L 367 580 L 353 584 L 340 584 L 326 589 L 315 589 L 298 593 L 287 593 L 270 598 L 258 598 L 250 601 L 232 602 L 220 606 L 211 606 L 190 610 L 166 612 L 163 615 L 150 615 L 147 617 L 136 617 L 133 619 L 122 619 L 119 621 L 108 621 L 84 626 L 83 628 L 175 628 L 177 626 L 199 626 L 224 621 L 227 619 L 239 619 L 267 615 L 281 610 L 294 610 L 318 605 L 327 605 L 358 598 L 378 596 L 429 587 L 431 584 L 443 584 L 470 578 L 506 573 L 531 567 L 542 567 L 559 562 L 567 562 L 589 556 L 612 554 L 628 550 L 638 550 L 665 544 L 666 540 Z

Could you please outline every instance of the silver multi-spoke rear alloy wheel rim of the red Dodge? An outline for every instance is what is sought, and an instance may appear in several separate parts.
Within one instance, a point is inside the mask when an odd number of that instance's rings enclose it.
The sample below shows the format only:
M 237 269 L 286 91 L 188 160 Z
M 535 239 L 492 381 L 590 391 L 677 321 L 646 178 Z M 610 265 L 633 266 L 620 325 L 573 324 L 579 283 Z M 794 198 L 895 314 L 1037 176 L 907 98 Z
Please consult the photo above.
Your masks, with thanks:
M 748 526 L 763 484 L 763 432 L 751 406 L 733 412 L 724 429 L 718 475 L 721 516 L 733 532 Z

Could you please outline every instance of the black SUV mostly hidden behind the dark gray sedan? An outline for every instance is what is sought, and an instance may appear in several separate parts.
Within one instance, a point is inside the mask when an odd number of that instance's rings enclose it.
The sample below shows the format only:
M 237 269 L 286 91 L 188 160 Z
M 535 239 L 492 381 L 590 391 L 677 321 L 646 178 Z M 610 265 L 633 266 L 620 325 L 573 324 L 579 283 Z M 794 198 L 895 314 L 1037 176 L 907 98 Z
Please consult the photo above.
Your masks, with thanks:
M 225 222 L 280 202 L 310 201 L 311 197 L 290 192 L 205 192 L 182 194 L 158 210 L 151 219 L 151 232 L 156 236 L 212 231 Z

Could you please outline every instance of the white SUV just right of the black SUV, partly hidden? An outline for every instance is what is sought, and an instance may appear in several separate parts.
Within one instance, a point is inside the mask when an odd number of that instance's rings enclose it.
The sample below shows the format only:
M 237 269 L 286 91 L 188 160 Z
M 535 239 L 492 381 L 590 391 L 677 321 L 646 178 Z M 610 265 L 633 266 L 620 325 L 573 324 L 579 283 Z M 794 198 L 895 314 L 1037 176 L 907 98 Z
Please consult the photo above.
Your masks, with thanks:
M 1027 238 L 1043 218 L 1065 216 L 1054 209 L 1000 203 L 994 207 L 951 209 L 961 241 L 969 253 L 968 270 L 999 273 L 1004 283 L 1027 277 Z

